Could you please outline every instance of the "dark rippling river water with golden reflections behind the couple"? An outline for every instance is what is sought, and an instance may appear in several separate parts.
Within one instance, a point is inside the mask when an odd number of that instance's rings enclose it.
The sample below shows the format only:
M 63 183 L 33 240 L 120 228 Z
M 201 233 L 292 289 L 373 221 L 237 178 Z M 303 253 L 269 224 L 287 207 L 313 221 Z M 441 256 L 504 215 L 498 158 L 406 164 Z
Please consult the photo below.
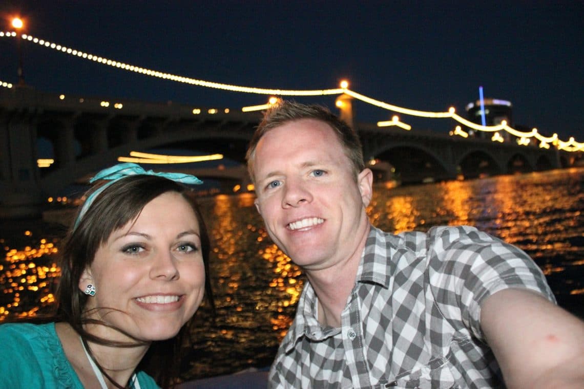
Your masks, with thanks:
M 388 188 L 378 183 L 367 209 L 391 232 L 471 225 L 525 250 L 543 269 L 561 306 L 584 316 L 584 169 Z M 286 334 L 304 285 L 272 243 L 253 195 L 201 199 L 212 244 L 217 316 L 198 313 L 183 379 L 263 367 Z M 34 314 L 54 303 L 62 228 L 2 222 L 0 316 Z

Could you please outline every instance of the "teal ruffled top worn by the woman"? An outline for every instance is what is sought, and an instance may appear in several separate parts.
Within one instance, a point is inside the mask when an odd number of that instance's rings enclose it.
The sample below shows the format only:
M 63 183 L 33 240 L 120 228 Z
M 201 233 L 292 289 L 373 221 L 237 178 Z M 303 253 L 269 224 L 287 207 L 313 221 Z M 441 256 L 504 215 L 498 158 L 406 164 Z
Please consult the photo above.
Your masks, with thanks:
M 137 376 L 141 389 L 158 388 L 148 374 Z M 83 389 L 55 323 L 0 325 L 0 388 Z

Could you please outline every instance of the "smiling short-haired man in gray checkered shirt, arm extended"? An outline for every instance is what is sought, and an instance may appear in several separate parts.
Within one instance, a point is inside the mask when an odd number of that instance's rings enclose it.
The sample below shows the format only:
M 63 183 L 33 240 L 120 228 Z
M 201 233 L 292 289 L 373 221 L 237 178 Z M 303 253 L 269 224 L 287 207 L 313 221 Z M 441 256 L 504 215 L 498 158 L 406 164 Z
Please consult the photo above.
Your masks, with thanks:
M 272 108 L 247 159 L 270 237 L 308 279 L 270 387 L 584 387 L 584 324 L 534 262 L 473 227 L 371 226 L 372 173 L 328 110 Z

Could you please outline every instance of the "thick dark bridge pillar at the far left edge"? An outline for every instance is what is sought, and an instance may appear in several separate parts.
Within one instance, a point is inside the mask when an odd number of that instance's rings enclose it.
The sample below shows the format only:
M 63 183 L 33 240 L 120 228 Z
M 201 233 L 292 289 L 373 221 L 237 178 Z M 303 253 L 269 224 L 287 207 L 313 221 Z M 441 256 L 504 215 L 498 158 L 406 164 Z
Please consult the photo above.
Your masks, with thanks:
M 34 117 L 16 113 L 7 118 L 0 142 L 0 218 L 39 215 L 44 195 L 39 188 Z

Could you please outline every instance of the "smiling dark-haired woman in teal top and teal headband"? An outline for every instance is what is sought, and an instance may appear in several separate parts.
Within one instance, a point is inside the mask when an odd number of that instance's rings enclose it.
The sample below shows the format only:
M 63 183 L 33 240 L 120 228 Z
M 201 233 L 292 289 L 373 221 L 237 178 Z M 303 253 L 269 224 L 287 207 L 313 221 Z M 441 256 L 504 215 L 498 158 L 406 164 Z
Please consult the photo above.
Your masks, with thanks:
M 100 171 L 62 249 L 50 318 L 0 325 L 0 387 L 172 386 L 208 281 L 206 227 L 186 174 Z

